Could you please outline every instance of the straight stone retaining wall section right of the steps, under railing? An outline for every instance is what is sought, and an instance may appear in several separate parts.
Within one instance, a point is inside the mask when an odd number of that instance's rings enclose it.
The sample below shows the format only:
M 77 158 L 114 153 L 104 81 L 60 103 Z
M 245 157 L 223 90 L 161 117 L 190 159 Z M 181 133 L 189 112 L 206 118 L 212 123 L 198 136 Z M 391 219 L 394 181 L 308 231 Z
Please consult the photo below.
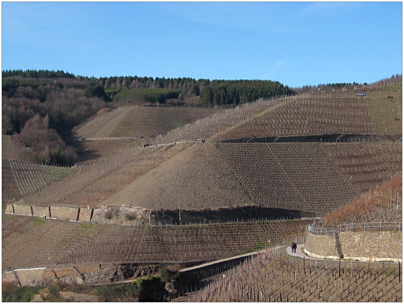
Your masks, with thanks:
M 403 261 L 402 231 L 349 231 L 339 233 L 345 258 L 360 261 Z

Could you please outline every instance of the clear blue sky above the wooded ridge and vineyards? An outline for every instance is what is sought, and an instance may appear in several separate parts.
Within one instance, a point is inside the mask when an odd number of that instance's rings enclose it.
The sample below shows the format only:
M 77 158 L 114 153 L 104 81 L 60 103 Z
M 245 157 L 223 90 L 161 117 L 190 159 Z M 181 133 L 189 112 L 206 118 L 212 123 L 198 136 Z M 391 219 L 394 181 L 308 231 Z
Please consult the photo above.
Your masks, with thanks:
M 402 2 L 2 2 L 1 69 L 270 79 L 402 74 Z

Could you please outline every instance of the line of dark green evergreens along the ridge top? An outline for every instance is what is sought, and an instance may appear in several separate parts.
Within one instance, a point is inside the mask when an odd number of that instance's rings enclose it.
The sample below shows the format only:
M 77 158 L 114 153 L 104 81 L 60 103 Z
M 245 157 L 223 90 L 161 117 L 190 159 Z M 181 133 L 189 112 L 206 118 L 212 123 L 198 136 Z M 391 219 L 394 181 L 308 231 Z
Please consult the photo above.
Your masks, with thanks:
M 239 104 L 251 102 L 260 97 L 293 93 L 288 86 L 272 80 L 196 80 L 190 77 L 153 78 L 139 76 L 96 78 L 47 70 L 8 70 L 2 71 L 2 77 L 3 81 L 4 78 L 7 79 L 2 86 L 3 91 L 11 94 L 18 86 L 37 87 L 41 84 L 44 85 L 47 82 L 44 78 L 71 78 L 82 80 L 91 86 L 86 92 L 86 97 L 98 96 L 104 101 L 121 101 L 121 103 L 165 103 L 168 101 L 168 103 L 176 105 L 214 106 Z M 61 86 L 61 83 L 59 81 L 54 85 Z M 160 90 L 153 91 L 151 89 Z M 130 91 L 125 92 L 127 90 Z

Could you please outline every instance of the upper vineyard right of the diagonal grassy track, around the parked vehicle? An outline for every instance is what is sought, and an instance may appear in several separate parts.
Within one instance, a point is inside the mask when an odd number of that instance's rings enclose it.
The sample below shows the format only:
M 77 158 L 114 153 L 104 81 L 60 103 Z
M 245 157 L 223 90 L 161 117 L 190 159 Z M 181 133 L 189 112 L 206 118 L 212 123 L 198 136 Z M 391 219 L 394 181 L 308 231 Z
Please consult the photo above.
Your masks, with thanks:
M 219 139 L 323 134 L 402 133 L 401 91 L 306 94 L 267 108 Z M 389 97 L 388 97 L 389 96 Z

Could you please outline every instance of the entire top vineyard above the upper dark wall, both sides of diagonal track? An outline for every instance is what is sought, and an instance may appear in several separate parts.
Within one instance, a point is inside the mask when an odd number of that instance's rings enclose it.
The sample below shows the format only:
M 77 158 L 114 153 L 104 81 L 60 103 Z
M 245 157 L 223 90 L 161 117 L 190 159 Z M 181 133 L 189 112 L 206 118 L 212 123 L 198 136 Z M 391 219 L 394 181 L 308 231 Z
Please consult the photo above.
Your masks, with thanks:
M 367 92 L 365 98 L 358 98 L 355 94 L 334 92 L 260 99 L 171 130 L 152 142 L 169 143 L 209 137 L 209 140 L 215 141 L 335 133 L 402 133 L 401 92 L 373 91 Z M 390 101 L 388 94 L 395 95 L 396 99 Z M 387 100 L 386 107 L 383 104 Z M 390 110 L 397 115 L 390 115 Z M 380 129 L 381 124 L 388 126 L 387 131 Z

